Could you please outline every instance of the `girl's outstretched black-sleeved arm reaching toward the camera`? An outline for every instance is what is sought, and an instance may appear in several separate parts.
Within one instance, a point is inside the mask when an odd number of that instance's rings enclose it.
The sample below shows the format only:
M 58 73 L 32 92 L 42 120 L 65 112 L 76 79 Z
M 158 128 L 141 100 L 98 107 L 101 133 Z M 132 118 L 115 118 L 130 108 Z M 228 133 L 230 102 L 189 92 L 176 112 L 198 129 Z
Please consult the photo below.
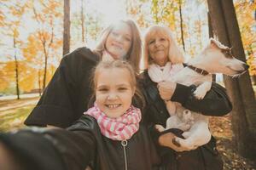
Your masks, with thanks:
M 17 166 L 19 170 L 20 167 L 37 170 L 85 169 L 96 150 L 96 142 L 89 132 L 69 132 L 61 128 L 1 133 L 0 143 L 0 150 L 4 150 L 0 153 L 8 158 L 1 166 L 11 166 L 12 170 L 16 170 Z

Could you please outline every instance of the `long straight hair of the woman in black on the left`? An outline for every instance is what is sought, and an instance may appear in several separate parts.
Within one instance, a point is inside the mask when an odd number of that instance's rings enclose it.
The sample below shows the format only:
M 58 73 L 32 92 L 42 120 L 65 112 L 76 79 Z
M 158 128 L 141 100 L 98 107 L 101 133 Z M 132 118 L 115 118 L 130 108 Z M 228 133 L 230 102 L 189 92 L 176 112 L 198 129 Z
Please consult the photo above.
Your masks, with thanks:
M 128 51 L 125 60 L 129 61 L 130 64 L 135 68 L 136 72 L 139 72 L 139 62 L 142 57 L 142 39 L 140 35 L 140 31 L 137 27 L 137 24 L 133 20 L 119 20 L 118 22 L 125 23 L 127 26 L 130 26 L 131 28 L 131 48 Z M 105 30 L 102 31 L 102 36 L 99 39 L 96 48 L 93 50 L 94 53 L 98 54 L 99 56 L 102 56 L 102 53 L 104 50 L 106 50 L 106 42 L 108 39 L 108 36 L 111 31 L 113 31 L 114 26 L 116 25 L 112 24 L 108 26 Z

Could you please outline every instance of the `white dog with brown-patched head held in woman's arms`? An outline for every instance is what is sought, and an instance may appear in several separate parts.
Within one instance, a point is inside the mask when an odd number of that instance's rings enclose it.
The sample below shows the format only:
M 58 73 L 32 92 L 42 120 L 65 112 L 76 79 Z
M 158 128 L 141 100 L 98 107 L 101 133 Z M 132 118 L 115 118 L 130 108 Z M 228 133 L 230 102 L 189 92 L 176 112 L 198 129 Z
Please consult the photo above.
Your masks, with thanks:
M 190 59 L 188 66 L 173 75 L 172 81 L 187 86 L 195 84 L 197 86 L 194 92 L 195 98 L 203 99 L 212 86 L 211 74 L 223 73 L 238 77 L 247 71 L 247 68 L 248 65 L 232 56 L 230 48 L 211 38 L 207 48 Z M 185 139 L 176 138 L 174 144 L 194 150 L 210 141 L 208 116 L 186 110 L 182 105 L 171 101 L 166 102 L 166 107 L 171 115 L 166 121 L 166 129 L 179 128 L 184 131 Z M 156 127 L 160 132 L 166 130 L 160 125 Z

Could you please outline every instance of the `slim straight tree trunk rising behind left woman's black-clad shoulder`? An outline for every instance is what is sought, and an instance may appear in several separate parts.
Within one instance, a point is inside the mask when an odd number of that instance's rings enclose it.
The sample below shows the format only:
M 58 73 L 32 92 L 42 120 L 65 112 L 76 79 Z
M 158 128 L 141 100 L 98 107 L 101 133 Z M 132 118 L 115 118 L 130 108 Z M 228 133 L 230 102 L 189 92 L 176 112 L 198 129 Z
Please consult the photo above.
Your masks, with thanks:
M 63 31 L 63 56 L 69 53 L 70 48 L 70 1 L 64 0 L 64 31 Z

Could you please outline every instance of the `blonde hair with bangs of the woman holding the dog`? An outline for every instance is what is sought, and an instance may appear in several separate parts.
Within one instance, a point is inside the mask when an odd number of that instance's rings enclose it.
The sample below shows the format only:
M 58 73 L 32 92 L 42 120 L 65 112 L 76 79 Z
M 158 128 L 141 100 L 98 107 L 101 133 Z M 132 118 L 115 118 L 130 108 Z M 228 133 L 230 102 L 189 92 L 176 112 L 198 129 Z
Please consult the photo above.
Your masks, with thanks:
M 150 54 L 148 52 L 148 42 L 150 39 L 155 37 L 156 35 L 160 37 L 165 37 L 169 42 L 169 54 L 168 58 L 172 62 L 172 64 L 180 64 L 184 62 L 183 52 L 178 48 L 177 42 L 172 37 L 172 31 L 166 26 L 150 26 L 145 33 L 144 36 L 144 48 L 143 48 L 143 56 L 144 56 L 144 65 L 146 69 L 150 63 L 154 62 Z

